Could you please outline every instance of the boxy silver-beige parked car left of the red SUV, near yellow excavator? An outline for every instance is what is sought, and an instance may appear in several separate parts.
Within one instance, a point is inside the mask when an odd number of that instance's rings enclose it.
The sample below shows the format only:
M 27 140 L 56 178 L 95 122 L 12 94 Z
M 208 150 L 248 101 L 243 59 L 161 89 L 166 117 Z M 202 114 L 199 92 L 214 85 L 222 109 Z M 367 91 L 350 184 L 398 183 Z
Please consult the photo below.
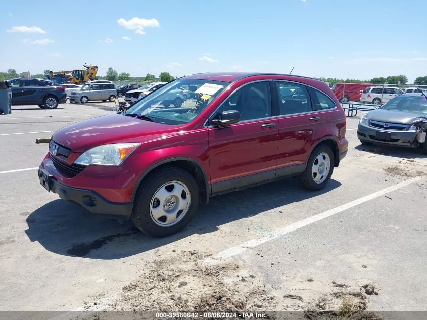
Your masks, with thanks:
M 70 94 L 70 102 L 87 103 L 94 100 L 113 101 L 116 98 L 117 91 L 114 83 L 111 81 L 88 81 L 78 91 Z

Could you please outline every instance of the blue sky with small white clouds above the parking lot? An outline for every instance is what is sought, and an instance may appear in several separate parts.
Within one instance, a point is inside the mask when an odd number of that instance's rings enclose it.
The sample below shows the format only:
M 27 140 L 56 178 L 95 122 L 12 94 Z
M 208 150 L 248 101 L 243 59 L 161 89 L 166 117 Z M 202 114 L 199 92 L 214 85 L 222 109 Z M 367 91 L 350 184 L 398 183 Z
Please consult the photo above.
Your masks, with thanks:
M 425 1 L 8 1 L 0 71 L 427 74 Z M 133 19 L 135 18 L 135 19 Z M 5 45 L 7 44 L 7 45 Z

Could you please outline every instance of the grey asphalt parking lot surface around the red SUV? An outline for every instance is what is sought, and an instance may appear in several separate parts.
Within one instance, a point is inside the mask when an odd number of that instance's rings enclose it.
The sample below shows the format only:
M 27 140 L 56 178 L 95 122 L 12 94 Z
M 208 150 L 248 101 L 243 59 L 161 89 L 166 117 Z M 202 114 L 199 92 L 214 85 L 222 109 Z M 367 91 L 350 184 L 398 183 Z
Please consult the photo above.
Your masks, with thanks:
M 324 190 L 289 178 L 217 196 L 185 230 L 155 239 L 39 185 L 47 145 L 35 138 L 113 106 L 15 106 L 0 116 L 2 311 L 179 311 L 209 306 L 203 292 L 255 309 L 322 309 L 366 284 L 370 310 L 427 310 L 420 151 L 362 146 L 359 120 L 348 118 L 348 155 Z

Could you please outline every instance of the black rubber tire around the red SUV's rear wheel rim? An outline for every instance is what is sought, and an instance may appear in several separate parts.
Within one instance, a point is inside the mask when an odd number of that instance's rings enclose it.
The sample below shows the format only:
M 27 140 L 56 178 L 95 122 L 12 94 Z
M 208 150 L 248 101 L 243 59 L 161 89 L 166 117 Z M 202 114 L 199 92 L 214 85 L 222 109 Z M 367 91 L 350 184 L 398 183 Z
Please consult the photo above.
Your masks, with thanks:
M 329 172 L 322 182 L 317 183 L 314 180 L 312 168 L 313 168 L 313 165 L 315 164 L 317 156 L 321 155 L 322 153 L 327 154 L 329 156 L 329 160 L 330 160 Z M 335 163 L 334 161 L 335 161 L 334 153 L 332 152 L 329 146 L 320 144 L 316 148 L 314 148 L 314 150 L 310 154 L 310 157 L 308 158 L 307 167 L 305 168 L 304 172 L 301 174 L 301 183 L 304 186 L 304 188 L 307 190 L 316 191 L 326 187 L 326 185 L 329 182 L 330 176 L 332 175 L 332 172 L 334 172 L 334 163 Z

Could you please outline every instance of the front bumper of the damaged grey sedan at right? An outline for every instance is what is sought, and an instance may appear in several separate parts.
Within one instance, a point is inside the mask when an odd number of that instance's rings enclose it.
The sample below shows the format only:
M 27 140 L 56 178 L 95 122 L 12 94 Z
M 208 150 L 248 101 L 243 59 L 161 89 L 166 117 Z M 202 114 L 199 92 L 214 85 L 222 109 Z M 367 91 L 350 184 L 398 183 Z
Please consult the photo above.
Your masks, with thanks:
M 389 132 L 390 140 L 376 138 L 377 132 Z M 376 142 L 381 144 L 416 148 L 418 142 L 415 141 L 416 132 L 407 130 L 383 130 L 379 128 L 372 128 L 359 123 L 357 127 L 357 138 L 359 140 Z

